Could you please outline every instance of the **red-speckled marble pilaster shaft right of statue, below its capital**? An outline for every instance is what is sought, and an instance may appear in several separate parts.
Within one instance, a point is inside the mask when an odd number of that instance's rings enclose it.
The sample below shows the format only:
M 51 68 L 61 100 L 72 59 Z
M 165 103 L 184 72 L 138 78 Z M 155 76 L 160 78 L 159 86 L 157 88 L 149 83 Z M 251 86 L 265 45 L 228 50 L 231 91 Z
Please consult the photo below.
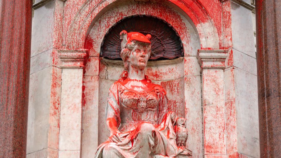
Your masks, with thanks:
M 202 103 L 205 154 L 226 154 L 225 89 L 222 69 L 203 69 Z

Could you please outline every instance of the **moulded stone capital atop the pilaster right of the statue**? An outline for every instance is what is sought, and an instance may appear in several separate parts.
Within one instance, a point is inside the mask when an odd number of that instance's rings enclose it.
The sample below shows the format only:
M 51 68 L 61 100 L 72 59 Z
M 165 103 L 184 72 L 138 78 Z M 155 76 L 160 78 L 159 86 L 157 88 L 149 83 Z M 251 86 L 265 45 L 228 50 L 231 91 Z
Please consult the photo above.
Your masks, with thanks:
M 198 49 L 197 59 L 203 69 L 224 69 L 228 49 Z

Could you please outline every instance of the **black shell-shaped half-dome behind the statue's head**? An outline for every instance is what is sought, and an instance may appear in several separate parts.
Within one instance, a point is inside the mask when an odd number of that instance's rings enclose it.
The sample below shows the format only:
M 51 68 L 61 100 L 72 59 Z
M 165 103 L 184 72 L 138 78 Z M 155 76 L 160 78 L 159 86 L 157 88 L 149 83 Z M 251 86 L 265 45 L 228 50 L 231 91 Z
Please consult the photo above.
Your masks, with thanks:
M 101 57 L 122 60 L 119 35 L 122 30 L 152 36 L 149 61 L 175 59 L 184 56 L 181 38 L 171 25 L 155 16 L 135 15 L 119 20 L 107 31 L 101 45 Z

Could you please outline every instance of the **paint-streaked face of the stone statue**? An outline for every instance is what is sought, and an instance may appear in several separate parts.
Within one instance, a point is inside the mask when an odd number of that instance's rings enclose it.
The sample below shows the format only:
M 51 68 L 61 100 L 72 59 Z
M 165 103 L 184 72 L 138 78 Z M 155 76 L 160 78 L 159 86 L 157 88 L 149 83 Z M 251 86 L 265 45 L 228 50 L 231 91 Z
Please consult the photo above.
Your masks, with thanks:
M 149 45 L 136 43 L 130 54 L 130 66 L 144 69 L 150 56 Z

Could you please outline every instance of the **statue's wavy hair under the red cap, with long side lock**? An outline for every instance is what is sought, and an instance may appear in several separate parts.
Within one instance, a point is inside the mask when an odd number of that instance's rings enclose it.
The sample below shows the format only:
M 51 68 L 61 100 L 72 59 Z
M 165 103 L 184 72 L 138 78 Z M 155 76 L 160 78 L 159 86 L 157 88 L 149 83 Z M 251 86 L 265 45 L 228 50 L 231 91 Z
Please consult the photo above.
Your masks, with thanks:
M 149 45 L 148 49 L 149 49 L 149 52 L 150 52 L 150 49 L 151 49 L 150 44 L 146 44 L 146 43 L 138 42 L 138 41 L 134 41 L 134 40 L 131 41 L 131 42 L 128 42 L 126 44 L 126 46 L 120 52 L 120 56 L 121 56 L 121 58 L 123 60 L 123 63 L 124 63 L 124 71 L 121 73 L 121 78 L 123 78 L 123 79 L 126 79 L 128 77 L 128 70 L 129 70 L 129 63 L 130 63 L 129 56 L 131 54 L 131 51 L 135 48 L 136 44 Z M 150 57 L 150 54 L 149 54 L 149 57 Z

